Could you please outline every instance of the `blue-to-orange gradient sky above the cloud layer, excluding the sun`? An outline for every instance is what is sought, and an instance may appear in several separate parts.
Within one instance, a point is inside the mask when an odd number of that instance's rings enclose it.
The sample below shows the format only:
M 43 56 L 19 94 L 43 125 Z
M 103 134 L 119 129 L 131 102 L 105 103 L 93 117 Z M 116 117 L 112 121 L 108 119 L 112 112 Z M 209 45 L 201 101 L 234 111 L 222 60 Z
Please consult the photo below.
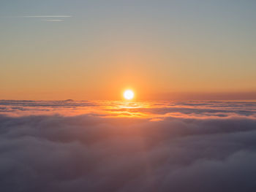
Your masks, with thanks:
M 0 99 L 253 93 L 255 9 L 249 0 L 1 0 Z

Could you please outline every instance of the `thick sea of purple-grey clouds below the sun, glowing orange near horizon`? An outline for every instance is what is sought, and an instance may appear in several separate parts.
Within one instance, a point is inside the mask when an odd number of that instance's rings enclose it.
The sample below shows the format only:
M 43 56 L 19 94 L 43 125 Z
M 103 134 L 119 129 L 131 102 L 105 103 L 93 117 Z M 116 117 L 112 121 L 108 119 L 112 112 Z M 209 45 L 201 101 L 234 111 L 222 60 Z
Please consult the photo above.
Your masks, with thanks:
M 256 191 L 256 102 L 0 101 L 0 191 Z

